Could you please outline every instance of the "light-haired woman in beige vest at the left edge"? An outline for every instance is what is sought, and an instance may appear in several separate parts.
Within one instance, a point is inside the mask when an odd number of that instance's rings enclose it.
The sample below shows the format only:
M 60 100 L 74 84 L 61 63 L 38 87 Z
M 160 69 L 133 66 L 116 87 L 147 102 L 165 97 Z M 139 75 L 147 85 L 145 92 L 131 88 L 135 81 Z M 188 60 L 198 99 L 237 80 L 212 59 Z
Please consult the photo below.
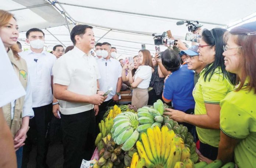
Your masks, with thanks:
M 0 37 L 6 48 L 14 71 L 26 90 L 26 95 L 3 106 L 4 117 L 11 129 L 16 150 L 17 165 L 21 167 L 22 146 L 28 131 L 29 118 L 34 116 L 32 110 L 32 92 L 29 85 L 28 68 L 24 59 L 18 55 L 18 25 L 14 16 L 4 10 L 0 10 Z

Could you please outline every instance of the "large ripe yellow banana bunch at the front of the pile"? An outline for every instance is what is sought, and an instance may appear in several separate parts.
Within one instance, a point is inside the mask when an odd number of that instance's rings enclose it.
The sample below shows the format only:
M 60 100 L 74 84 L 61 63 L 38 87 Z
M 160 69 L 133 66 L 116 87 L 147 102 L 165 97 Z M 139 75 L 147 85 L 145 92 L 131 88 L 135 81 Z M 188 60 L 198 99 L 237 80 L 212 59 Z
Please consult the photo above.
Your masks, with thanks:
M 174 168 L 177 162 L 182 162 L 177 163 L 177 167 L 193 167 L 189 148 L 173 130 L 164 125 L 161 130 L 154 126 L 146 132 L 142 133 L 142 142 L 137 141 L 136 147 L 147 168 Z

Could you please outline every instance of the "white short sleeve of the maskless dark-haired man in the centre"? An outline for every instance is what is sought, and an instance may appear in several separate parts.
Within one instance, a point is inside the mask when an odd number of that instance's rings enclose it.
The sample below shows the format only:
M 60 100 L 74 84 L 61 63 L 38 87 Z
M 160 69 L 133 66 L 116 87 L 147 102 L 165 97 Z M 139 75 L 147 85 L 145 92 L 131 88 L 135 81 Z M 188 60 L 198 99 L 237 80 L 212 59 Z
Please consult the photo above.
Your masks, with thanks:
M 53 83 L 68 86 L 71 81 L 72 70 L 67 63 L 68 60 L 62 56 L 53 65 Z

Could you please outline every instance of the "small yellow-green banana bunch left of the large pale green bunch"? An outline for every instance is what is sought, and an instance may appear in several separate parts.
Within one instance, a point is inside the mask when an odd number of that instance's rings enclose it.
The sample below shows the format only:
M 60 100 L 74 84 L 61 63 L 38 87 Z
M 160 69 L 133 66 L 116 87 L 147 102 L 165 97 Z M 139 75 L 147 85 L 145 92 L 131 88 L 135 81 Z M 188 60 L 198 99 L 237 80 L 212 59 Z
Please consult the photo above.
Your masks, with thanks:
M 99 123 L 99 129 L 100 133 L 97 135 L 97 138 L 95 140 L 95 146 L 97 146 L 100 142 L 100 140 L 104 137 L 106 137 L 108 134 L 110 134 L 110 130 L 113 127 L 114 121 L 113 118 L 105 118 L 104 120 L 101 120 Z

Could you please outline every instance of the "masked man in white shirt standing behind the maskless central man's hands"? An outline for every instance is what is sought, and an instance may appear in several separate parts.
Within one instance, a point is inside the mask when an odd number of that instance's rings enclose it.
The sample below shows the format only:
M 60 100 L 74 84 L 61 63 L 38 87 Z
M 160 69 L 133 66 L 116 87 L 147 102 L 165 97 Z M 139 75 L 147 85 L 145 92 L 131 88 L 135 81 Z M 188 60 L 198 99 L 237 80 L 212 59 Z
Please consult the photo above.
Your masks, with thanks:
M 122 86 L 122 67 L 120 62 L 111 57 L 111 44 L 102 43 L 102 58 L 97 60 L 100 70 L 100 90 L 106 92 L 109 88 L 113 90 L 108 94 L 107 99 L 100 105 L 99 114 L 96 116 L 96 125 L 103 119 L 108 106 L 114 106 L 119 99 Z M 97 129 L 99 132 L 99 129 Z

